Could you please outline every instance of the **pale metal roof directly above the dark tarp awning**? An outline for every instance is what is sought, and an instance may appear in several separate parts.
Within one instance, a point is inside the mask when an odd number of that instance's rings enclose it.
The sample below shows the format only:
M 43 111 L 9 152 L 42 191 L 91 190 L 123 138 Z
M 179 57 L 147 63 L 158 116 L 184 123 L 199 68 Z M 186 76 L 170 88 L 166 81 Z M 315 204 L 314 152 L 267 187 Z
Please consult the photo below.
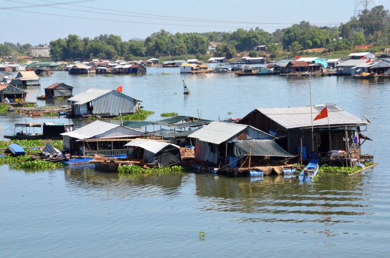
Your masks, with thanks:
M 201 141 L 220 144 L 228 139 L 231 139 L 232 137 L 234 137 L 235 135 L 244 131 L 247 128 L 250 128 L 252 130 L 255 130 L 256 132 L 264 134 L 264 136 L 267 137 L 269 136 L 269 138 L 272 138 L 271 135 L 261 132 L 260 130 L 257 130 L 249 125 L 225 123 L 220 121 L 211 122 L 207 126 L 200 128 L 195 133 L 189 135 L 189 137 L 196 138 Z

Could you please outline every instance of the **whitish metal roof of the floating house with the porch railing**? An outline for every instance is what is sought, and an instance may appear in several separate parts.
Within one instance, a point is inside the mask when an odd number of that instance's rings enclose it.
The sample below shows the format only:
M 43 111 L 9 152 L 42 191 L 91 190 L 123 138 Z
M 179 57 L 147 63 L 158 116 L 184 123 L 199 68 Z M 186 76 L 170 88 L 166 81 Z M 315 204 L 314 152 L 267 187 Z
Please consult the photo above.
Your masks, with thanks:
M 118 135 L 115 132 L 111 132 L 109 135 L 102 135 L 112 129 L 117 129 L 118 131 L 120 131 L 120 134 Z M 61 135 L 65 135 L 77 139 L 90 139 L 93 137 L 109 137 L 109 136 L 111 137 L 111 136 L 142 135 L 142 134 L 143 134 L 142 132 L 135 129 L 97 120 L 75 131 L 63 133 Z

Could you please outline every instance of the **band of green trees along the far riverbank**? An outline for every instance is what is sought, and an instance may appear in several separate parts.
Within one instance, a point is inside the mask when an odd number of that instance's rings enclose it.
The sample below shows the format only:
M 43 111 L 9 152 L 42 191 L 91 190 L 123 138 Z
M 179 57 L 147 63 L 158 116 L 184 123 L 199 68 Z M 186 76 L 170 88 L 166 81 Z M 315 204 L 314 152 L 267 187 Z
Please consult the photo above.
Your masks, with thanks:
M 358 31 L 358 32 L 356 32 Z M 209 51 L 210 42 L 218 42 Z M 373 44 L 368 49 L 354 49 L 356 45 Z M 257 45 L 266 46 L 263 52 L 253 51 Z M 0 55 L 23 56 L 31 44 L 11 42 L 0 44 Z M 256 27 L 233 32 L 176 33 L 165 30 L 153 33 L 145 40 L 122 40 L 117 35 L 99 35 L 93 39 L 70 34 L 64 39 L 50 41 L 51 58 L 35 60 L 208 60 L 210 57 L 234 59 L 244 54 L 271 59 L 293 59 L 295 56 L 345 57 L 355 53 L 382 53 L 390 48 L 390 13 L 383 5 L 361 12 L 346 23 L 335 26 L 316 26 L 301 21 L 270 33 Z M 238 53 L 241 53 L 239 55 Z M 348 54 L 347 54 L 348 53 Z

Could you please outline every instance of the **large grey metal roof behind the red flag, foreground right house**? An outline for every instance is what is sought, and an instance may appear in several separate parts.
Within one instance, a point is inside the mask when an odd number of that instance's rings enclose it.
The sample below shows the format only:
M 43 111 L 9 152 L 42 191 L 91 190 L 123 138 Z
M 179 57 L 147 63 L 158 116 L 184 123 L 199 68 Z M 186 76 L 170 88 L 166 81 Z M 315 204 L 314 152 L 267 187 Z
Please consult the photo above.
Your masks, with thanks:
M 313 119 L 324 108 L 325 105 L 313 106 Z M 257 110 L 287 129 L 312 126 L 310 106 L 290 108 L 258 108 Z M 338 108 L 334 104 L 328 104 L 328 117 L 330 125 L 369 123 L 368 121 L 359 119 L 351 115 L 350 113 Z M 328 119 L 319 119 L 313 121 L 313 126 L 321 125 L 328 125 Z

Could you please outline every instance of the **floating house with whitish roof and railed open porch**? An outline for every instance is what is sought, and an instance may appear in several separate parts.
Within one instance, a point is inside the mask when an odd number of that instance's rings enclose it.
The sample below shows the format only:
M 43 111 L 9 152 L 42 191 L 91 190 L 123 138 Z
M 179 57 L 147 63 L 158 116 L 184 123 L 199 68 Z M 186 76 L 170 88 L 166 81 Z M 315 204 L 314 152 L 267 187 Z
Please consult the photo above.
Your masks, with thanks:
M 126 155 L 123 145 L 139 138 L 142 132 L 118 124 L 94 121 L 72 132 L 61 134 L 64 149 L 71 155 Z

